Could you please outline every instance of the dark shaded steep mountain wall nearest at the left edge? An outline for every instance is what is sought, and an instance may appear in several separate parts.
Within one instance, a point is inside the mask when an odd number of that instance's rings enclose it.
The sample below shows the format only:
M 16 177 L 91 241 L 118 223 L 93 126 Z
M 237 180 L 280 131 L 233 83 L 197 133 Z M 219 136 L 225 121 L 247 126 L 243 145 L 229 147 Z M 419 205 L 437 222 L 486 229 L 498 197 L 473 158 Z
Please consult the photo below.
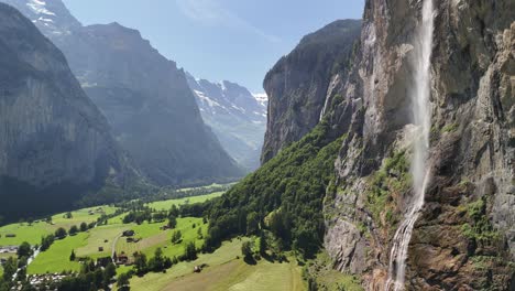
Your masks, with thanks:
M 0 216 L 63 209 L 138 174 L 64 55 L 0 3 Z

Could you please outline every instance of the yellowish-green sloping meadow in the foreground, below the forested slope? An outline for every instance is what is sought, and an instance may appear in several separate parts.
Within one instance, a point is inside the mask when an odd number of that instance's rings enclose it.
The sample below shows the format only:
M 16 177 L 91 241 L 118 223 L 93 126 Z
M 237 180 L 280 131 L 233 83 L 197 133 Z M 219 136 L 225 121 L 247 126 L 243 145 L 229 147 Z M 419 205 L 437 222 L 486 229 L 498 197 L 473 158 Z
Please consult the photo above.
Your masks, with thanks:
M 246 238 L 245 238 L 246 239 Z M 226 241 L 213 254 L 199 255 L 190 262 L 179 262 L 166 273 L 149 273 L 131 280 L 132 290 L 306 290 L 300 267 L 294 262 L 272 263 L 261 260 L 255 266 L 241 258 L 245 239 Z M 200 273 L 194 267 L 207 265 Z

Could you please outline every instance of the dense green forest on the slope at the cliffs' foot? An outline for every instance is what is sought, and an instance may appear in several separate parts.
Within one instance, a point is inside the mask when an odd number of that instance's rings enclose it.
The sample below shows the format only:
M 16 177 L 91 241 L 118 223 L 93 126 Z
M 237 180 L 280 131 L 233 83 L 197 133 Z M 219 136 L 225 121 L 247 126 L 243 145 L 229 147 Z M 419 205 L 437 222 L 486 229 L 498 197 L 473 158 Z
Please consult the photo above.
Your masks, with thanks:
M 235 235 L 270 229 L 284 249 L 314 255 L 324 236 L 322 201 L 344 137 L 330 138 L 322 121 L 300 141 L 213 203 L 207 247 Z

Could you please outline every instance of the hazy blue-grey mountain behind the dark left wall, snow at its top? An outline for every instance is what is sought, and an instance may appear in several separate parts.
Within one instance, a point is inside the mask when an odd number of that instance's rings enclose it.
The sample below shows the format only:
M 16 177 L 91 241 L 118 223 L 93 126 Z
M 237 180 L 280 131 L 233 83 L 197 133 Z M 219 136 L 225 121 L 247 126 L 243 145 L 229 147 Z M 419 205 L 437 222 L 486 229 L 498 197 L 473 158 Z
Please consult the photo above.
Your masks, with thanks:
M 78 25 L 61 0 L 9 1 L 63 51 L 117 140 L 151 182 L 193 185 L 241 175 L 204 123 L 185 73 L 138 31 L 118 23 Z M 52 22 L 40 21 L 47 15 Z M 48 23 L 55 28 L 48 30 Z

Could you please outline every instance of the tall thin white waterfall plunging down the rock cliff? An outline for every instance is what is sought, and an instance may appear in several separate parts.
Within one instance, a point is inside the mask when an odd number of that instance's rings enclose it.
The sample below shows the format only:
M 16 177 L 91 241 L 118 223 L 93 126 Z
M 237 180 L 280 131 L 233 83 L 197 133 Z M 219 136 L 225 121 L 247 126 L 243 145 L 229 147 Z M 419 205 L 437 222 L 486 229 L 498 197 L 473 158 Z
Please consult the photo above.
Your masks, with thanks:
M 393 247 L 390 254 L 388 280 L 385 289 L 397 291 L 404 289 L 406 259 L 416 220 L 424 207 L 426 187 L 430 180 L 427 165 L 429 151 L 429 133 L 431 127 L 430 110 L 430 61 L 434 33 L 432 0 L 421 0 L 421 23 L 418 25 L 414 43 L 413 67 L 415 72 L 414 84 L 409 91 L 412 98 L 414 131 L 414 152 L 410 172 L 413 175 L 413 197 L 409 201 L 409 211 L 405 214 L 401 226 L 395 233 Z

